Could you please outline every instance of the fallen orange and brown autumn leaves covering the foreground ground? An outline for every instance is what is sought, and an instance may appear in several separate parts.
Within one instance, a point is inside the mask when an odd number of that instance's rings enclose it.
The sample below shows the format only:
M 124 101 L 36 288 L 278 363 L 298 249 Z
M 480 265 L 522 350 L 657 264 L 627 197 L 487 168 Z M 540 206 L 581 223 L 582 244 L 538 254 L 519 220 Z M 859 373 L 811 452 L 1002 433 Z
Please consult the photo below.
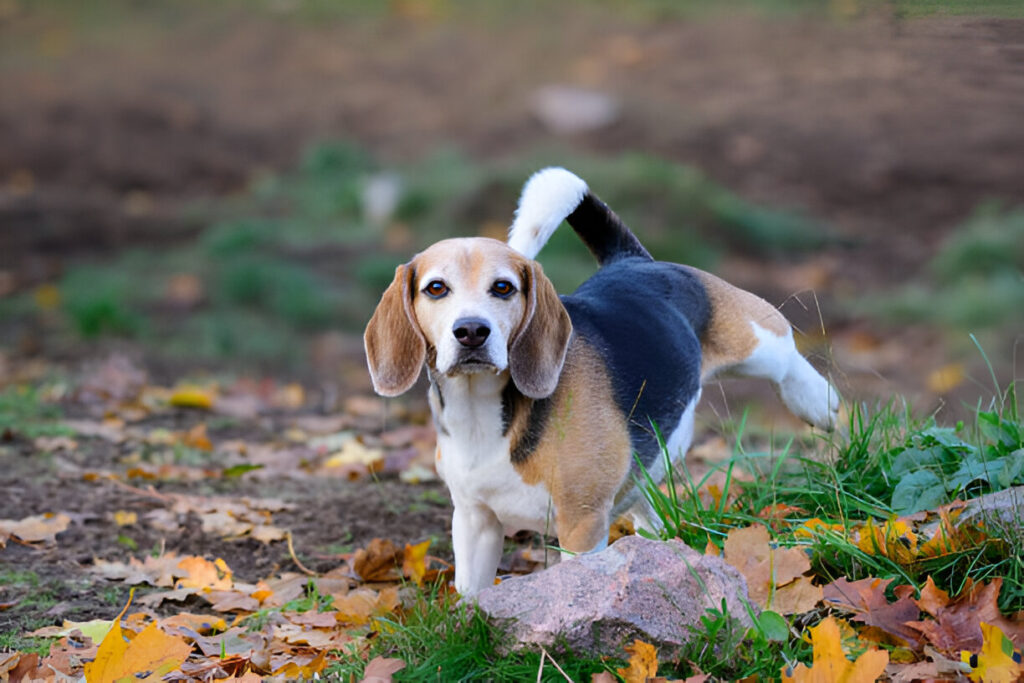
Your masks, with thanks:
M 397 475 L 419 481 L 435 476 L 432 429 L 410 424 L 409 416 L 401 416 L 399 426 L 382 430 L 386 409 L 377 399 L 353 396 L 344 401 L 341 413 L 311 415 L 302 411 L 307 397 L 298 385 L 238 381 L 162 388 L 137 375 L 111 380 L 112 372 L 101 372 L 104 381 L 113 383 L 111 391 L 94 383 L 73 392 L 87 404 L 84 417 L 63 421 L 74 438 L 36 437 L 33 447 L 52 454 L 62 477 L 114 486 L 147 508 L 108 513 L 119 528 L 145 525 L 173 535 L 195 523 L 204 535 L 233 542 L 268 546 L 287 541 L 294 564 L 302 568 L 288 530 L 273 523 L 275 514 L 293 511 L 294 504 L 186 494 L 168 490 L 167 485 L 238 477 L 301 481 Z M 189 416 L 188 424 L 177 419 L 168 423 L 168 417 L 181 412 Z M 220 429 L 209 426 L 222 419 L 244 424 L 267 416 L 280 426 L 269 433 L 224 438 Z M 122 454 L 113 467 L 97 469 L 78 457 L 95 443 L 109 443 Z M 139 480 L 146 482 L 144 488 L 133 483 Z M 723 503 L 721 488 L 708 487 L 701 490 L 705 495 L 716 505 L 731 504 Z M 802 518 L 804 510 L 776 505 L 760 513 L 768 526 L 754 524 L 730 532 L 723 556 L 746 578 L 752 601 L 759 607 L 799 615 L 826 606 L 850 620 L 829 616 L 812 627 L 807 636 L 814 647 L 812 666 L 800 665 L 780 675 L 796 681 L 874 680 L 882 671 L 894 681 L 1019 678 L 1024 618 L 999 612 L 998 579 L 969 582 L 953 597 L 931 578 L 920 595 L 913 587 L 892 586 L 888 580 L 840 578 L 823 583 L 811 572 L 806 550 L 772 540 L 773 533 L 786 529 L 804 540 L 843 535 L 864 553 L 914 566 L 988 542 L 981 520 L 958 519 L 966 505 L 954 503 L 849 529 Z M 0 520 L 0 548 L 5 543 L 59 548 L 59 536 L 89 518 L 56 511 Z M 139 680 L 310 677 L 338 656 L 365 656 L 380 628 L 378 620 L 400 617 L 408 599 L 403 596 L 412 590 L 406 586 L 443 584 L 452 575 L 443 559 L 428 554 L 429 547 L 429 541 L 396 545 L 375 539 L 337 553 L 335 566 L 327 571 L 275 572 L 256 583 L 234 575 L 229 555 L 225 560 L 161 550 L 123 559 L 97 557 L 89 567 L 97 578 L 150 587 L 151 592 L 129 601 L 118 618 L 66 620 L 31 632 L 33 637 L 55 639 L 49 653 L 2 655 L 0 677 L 53 680 L 81 676 L 86 666 L 90 680 L 116 680 L 126 674 Z M 718 552 L 713 544 L 709 549 Z M 543 568 L 548 553 L 542 549 L 536 554 L 520 548 L 503 563 L 509 567 L 511 562 L 511 568 L 520 571 Z M 136 607 L 129 613 L 131 604 Z M 629 666 L 620 670 L 626 680 L 656 676 L 653 646 L 638 641 L 626 654 Z M 400 660 L 378 657 L 368 664 L 368 680 L 388 680 L 401 666 Z M 703 680 L 703 675 L 691 680 Z

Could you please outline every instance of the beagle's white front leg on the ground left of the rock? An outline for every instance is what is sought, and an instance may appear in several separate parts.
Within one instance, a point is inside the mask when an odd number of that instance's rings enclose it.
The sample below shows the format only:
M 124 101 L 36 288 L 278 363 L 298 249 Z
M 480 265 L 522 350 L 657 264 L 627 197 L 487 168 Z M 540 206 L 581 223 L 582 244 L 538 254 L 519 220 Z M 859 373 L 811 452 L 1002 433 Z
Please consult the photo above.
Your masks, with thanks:
M 504 539 L 504 528 L 489 509 L 471 503 L 456 504 L 452 516 L 452 545 L 455 547 L 455 588 L 461 595 L 476 595 L 494 585 Z

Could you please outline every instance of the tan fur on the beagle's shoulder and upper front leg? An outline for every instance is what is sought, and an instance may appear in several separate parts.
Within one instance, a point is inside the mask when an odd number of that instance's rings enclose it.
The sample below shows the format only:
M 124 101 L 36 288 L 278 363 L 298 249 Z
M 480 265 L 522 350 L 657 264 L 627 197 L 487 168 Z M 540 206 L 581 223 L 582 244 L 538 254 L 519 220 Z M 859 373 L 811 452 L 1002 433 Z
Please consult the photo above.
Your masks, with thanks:
M 608 515 L 630 469 L 626 418 L 615 405 L 604 364 L 582 339 L 569 344 L 562 382 L 537 450 L 515 468 L 526 483 L 551 494 L 559 544 L 584 552 L 604 540 Z M 513 445 L 528 419 L 525 399 L 513 410 Z

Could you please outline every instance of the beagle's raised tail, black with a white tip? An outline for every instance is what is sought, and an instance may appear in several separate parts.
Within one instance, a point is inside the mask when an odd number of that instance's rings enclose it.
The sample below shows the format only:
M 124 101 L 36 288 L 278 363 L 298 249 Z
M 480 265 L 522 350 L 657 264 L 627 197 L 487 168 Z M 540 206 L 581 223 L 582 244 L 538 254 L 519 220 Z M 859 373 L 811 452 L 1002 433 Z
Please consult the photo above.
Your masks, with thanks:
M 509 228 L 509 246 L 526 258 L 537 258 L 563 220 L 602 265 L 626 256 L 653 260 L 622 219 L 564 168 L 538 171 L 523 185 Z

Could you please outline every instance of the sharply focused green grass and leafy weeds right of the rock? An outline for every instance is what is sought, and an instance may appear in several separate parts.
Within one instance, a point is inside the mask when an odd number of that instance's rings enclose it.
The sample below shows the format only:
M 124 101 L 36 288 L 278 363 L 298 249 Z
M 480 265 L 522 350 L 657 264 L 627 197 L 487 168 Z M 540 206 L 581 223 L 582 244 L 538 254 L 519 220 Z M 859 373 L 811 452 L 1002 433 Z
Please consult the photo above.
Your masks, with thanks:
M 1020 473 L 1024 420 L 1013 389 L 999 394 L 990 405 L 979 407 L 971 424 L 938 426 L 932 418 L 912 418 L 904 405 L 891 401 L 872 410 L 852 407 L 845 432 L 846 436 L 817 437 L 824 442 L 816 449 L 813 443 L 788 437 L 748 450 L 740 423 L 735 455 L 719 467 L 726 474 L 719 504 L 701 502 L 697 495 L 713 473 L 697 480 L 685 464 L 677 473 L 669 470 L 664 489 L 649 479 L 644 482 L 647 498 L 665 525 L 663 537 L 680 538 L 696 548 L 709 541 L 721 546 L 731 529 L 765 523 L 759 512 L 768 506 L 794 506 L 802 512 L 773 533 L 774 543 L 803 548 L 819 583 L 840 577 L 871 577 L 892 579 L 893 586 L 920 589 L 931 577 L 940 588 L 956 595 L 969 579 L 988 582 L 1001 578 L 999 607 L 1006 613 L 1024 608 L 1024 560 L 1018 552 L 1024 547 L 1020 519 L 989 522 L 986 539 L 966 544 L 956 552 L 918 556 L 911 561 L 890 559 L 877 549 L 868 552 L 851 535 L 869 519 L 885 524 L 898 514 L 934 510 L 953 500 L 1024 484 Z M 812 450 L 823 451 L 826 457 L 800 455 Z M 734 476 L 737 470 L 753 473 L 753 480 Z M 921 472 L 936 475 L 930 480 L 933 487 L 908 490 L 918 486 Z M 676 484 L 682 493 L 676 493 Z M 734 498 L 727 503 L 730 497 Z M 812 518 L 838 529 L 798 535 L 800 523 Z M 806 643 L 794 635 L 799 628 L 792 629 L 784 641 L 765 643 L 759 641 L 765 638 L 764 633 L 757 629 L 730 632 L 723 618 L 709 613 L 703 620 L 706 633 L 695 642 L 721 642 L 736 656 L 723 663 L 705 647 L 689 652 L 685 661 L 705 673 L 734 680 L 754 674 L 776 677 L 783 666 L 809 659 Z M 694 671 L 681 665 L 677 673 Z

